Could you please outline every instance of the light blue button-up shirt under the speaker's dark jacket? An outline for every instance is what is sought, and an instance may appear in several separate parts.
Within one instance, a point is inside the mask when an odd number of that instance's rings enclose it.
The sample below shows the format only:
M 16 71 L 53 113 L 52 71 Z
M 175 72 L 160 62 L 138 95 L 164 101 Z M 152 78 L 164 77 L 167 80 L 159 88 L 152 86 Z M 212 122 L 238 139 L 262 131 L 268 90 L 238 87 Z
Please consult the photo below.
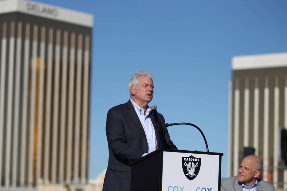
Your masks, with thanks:
M 158 145 L 156 142 L 156 132 L 153 128 L 153 123 L 151 122 L 151 118 L 149 116 L 149 114 L 151 113 L 151 108 L 147 106 L 146 115 L 144 115 L 143 108 L 140 108 L 132 99 L 130 100 L 131 104 L 133 104 L 134 109 L 136 110 L 136 114 L 139 117 L 139 121 L 141 121 L 144 133 L 146 134 L 146 140 L 148 142 L 148 153 L 151 153 L 158 149 Z M 148 153 L 143 154 L 143 156 Z

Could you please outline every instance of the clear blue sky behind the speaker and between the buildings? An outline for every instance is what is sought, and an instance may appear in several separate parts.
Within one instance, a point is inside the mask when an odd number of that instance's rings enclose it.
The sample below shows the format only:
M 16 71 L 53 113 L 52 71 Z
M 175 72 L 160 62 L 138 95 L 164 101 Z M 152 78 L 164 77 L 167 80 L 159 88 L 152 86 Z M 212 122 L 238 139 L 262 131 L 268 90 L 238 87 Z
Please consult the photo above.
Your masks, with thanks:
M 89 178 L 107 166 L 107 111 L 129 99 L 127 83 L 151 71 L 167 123 L 189 122 L 209 150 L 223 152 L 227 176 L 231 58 L 287 51 L 287 1 L 40 0 L 94 15 Z M 188 126 L 169 127 L 179 149 L 205 151 Z

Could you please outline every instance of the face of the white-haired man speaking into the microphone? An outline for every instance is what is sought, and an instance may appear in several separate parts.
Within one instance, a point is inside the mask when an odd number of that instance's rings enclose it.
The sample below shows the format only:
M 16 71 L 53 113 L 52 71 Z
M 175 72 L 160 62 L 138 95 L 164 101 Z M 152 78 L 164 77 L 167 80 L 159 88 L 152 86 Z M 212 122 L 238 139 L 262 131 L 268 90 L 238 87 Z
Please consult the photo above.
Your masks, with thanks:
M 148 104 L 153 99 L 153 80 L 147 76 L 139 76 L 139 84 L 136 89 L 132 89 L 135 100 Z

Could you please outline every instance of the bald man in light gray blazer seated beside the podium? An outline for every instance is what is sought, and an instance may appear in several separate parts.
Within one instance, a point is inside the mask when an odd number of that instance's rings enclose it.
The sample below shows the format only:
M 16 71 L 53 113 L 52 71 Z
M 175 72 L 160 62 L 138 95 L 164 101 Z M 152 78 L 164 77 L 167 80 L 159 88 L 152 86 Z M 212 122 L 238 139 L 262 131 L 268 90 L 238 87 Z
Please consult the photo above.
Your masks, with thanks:
M 259 177 L 263 163 L 259 156 L 246 156 L 238 169 L 238 175 L 221 180 L 221 191 L 260 190 L 275 191 L 275 187 Z

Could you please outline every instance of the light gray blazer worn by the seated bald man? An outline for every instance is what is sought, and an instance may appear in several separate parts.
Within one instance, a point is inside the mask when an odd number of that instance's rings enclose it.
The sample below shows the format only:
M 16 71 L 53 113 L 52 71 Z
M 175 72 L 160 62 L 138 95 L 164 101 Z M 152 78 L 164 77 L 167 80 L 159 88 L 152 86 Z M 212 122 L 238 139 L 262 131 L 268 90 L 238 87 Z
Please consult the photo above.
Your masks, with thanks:
M 220 191 L 242 191 L 242 190 L 243 190 L 242 184 L 241 182 L 238 182 L 237 176 L 224 178 L 221 180 Z M 265 182 L 260 178 L 257 178 L 256 191 L 275 191 L 275 187 L 272 184 Z

